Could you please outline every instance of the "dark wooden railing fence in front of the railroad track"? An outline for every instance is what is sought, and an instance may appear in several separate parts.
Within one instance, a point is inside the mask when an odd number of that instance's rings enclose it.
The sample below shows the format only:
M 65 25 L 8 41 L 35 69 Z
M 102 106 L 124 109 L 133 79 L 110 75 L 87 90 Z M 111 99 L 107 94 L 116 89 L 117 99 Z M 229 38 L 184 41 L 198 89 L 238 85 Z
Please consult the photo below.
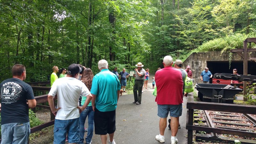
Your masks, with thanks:
M 199 101 L 194 101 L 193 97 L 188 97 L 187 109 L 188 109 L 188 113 L 187 113 L 186 129 L 188 130 L 188 144 L 193 143 L 193 131 L 213 132 L 213 133 L 230 134 L 230 135 L 238 135 L 238 136 L 256 138 L 255 132 L 242 132 L 242 131 L 238 131 L 238 130 L 230 130 L 230 129 L 225 129 L 225 128 L 212 128 L 212 127 L 193 125 L 194 109 L 221 111 L 221 112 L 230 112 L 230 113 L 254 114 L 255 115 L 256 114 L 256 106 L 226 104 L 226 103 L 212 103 L 212 102 L 199 102 Z

